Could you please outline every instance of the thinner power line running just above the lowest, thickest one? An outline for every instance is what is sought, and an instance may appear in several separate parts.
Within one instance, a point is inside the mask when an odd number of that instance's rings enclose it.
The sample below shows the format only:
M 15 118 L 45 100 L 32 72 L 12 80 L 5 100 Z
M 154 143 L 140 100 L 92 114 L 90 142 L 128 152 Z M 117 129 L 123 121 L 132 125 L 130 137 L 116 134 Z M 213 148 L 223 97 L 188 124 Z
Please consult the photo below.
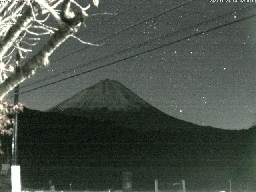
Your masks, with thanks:
M 75 70 L 75 69 L 78 69 L 78 68 L 81 68 L 81 67 L 85 67 L 85 66 L 89 66 L 89 65 L 92 64 L 92 63 L 99 62 L 99 61 L 101 61 L 101 60 L 110 58 L 110 57 L 115 56 L 115 55 L 119 55 L 119 54 L 121 54 L 121 53 L 123 53 L 123 52 L 132 50 L 132 49 L 134 49 L 134 48 L 138 48 L 138 47 L 143 46 L 143 45 L 145 45 L 145 44 L 154 42 L 154 41 L 156 41 L 156 40 L 160 40 L 160 39 L 162 39 L 162 38 L 167 38 L 167 37 L 170 36 L 170 35 L 174 35 L 174 34 L 177 34 L 177 33 L 179 33 L 179 32 L 183 32 L 183 31 L 185 31 L 185 30 L 188 30 L 188 29 L 191 29 L 191 28 L 195 28 L 195 27 L 201 26 L 201 25 L 203 25 L 203 24 L 208 24 L 208 23 L 211 22 L 211 21 L 220 20 L 220 19 L 222 19 L 223 17 L 228 16 L 229 14 L 233 14 L 234 12 L 239 13 L 239 12 L 242 12 L 242 11 L 244 11 L 244 10 L 253 8 L 253 7 L 255 7 L 255 6 L 256 6 L 256 5 L 254 5 L 254 6 L 248 6 L 248 7 L 246 7 L 246 8 L 241 8 L 241 9 L 239 9 L 239 10 L 234 10 L 234 11 L 228 12 L 227 14 L 218 16 L 218 17 L 216 17 L 216 18 L 212 18 L 212 19 L 210 19 L 210 20 L 201 22 L 201 23 L 196 24 L 196 25 L 193 25 L 193 26 L 189 26 L 189 27 L 184 28 L 184 29 L 182 29 L 182 30 L 178 30 L 178 31 L 174 31 L 174 32 L 172 32 L 172 33 L 165 34 L 165 35 L 160 36 L 160 37 L 158 37 L 158 38 L 154 38 L 154 39 L 152 39 L 152 40 L 150 40 L 150 41 L 147 41 L 147 42 L 144 42 L 144 43 L 141 43 L 141 44 L 132 46 L 131 48 L 126 48 L 126 49 L 124 49 L 124 50 L 122 50 L 122 51 L 120 51 L 120 52 L 117 52 L 117 53 L 114 53 L 114 54 L 110 54 L 110 55 L 108 55 L 108 56 L 104 56 L 104 57 L 102 57 L 102 58 L 99 58 L 99 59 L 90 61 L 90 62 L 88 62 L 88 63 L 86 63 L 86 64 L 82 64 L 82 65 L 80 65 L 80 66 L 76 66 L 76 67 L 74 67 L 74 68 L 71 68 L 71 69 L 69 69 L 69 70 L 65 70 L 65 71 L 60 72 L 60 73 L 58 73 L 58 74 L 54 74 L 54 75 L 52 75 L 52 76 L 50 76 L 50 77 L 47 77 L 47 78 L 38 80 L 38 81 L 36 81 L 36 82 L 32 82 L 32 83 L 30 83 L 30 84 L 27 84 L 27 85 L 22 86 L 21 88 L 24 88 L 24 87 L 27 87 L 27 86 L 31 86 L 31 85 L 37 84 L 37 83 L 39 83 L 39 82 L 44 82 L 44 81 L 49 80 L 49 79 L 51 79 L 51 78 L 55 78 L 56 76 L 59 76 L 59 75 L 61 75 L 61 74 L 65 74 L 65 73 L 67 73 L 67 72 L 72 72 L 72 71 Z

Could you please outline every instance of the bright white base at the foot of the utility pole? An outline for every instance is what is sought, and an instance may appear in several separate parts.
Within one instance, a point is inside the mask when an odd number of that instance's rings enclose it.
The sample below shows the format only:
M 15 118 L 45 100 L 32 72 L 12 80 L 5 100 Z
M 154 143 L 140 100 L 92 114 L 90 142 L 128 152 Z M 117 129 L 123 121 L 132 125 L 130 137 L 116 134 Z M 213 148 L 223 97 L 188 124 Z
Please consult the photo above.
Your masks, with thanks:
M 12 192 L 21 192 L 20 166 L 11 166 Z

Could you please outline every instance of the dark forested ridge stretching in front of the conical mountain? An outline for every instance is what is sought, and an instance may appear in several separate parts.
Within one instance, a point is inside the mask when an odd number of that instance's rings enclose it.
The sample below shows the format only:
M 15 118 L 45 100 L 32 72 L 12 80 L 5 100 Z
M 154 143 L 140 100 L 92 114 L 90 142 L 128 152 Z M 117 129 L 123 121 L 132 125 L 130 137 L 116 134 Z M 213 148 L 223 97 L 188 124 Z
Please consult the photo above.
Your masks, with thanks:
M 121 125 L 120 121 L 126 123 Z M 179 127 L 180 124 L 159 118 L 156 123 L 148 119 L 146 125 L 145 119 L 132 126 L 128 123 L 130 117 L 120 121 L 96 121 L 25 108 L 19 116 L 20 163 L 171 166 L 178 162 L 184 166 L 248 166 L 253 162 L 256 128 L 222 130 L 188 122 Z

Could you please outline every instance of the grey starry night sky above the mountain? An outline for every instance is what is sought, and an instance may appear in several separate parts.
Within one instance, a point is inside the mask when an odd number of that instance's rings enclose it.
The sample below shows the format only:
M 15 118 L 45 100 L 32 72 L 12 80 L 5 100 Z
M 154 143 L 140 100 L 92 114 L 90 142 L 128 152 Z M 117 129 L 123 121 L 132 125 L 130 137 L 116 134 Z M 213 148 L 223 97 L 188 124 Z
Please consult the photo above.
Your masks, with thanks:
M 46 110 L 98 81 L 110 78 L 118 80 L 156 108 L 176 118 L 224 129 L 249 128 L 256 121 L 256 18 L 234 21 L 256 14 L 256 3 L 231 1 L 216 3 L 210 0 L 100 0 L 99 7 L 91 6 L 89 14 L 122 14 L 89 17 L 86 19 L 87 28 L 82 26 L 77 36 L 87 42 L 97 42 L 110 35 L 111 37 L 100 42 L 104 43 L 103 46 L 90 46 L 51 62 L 85 46 L 77 40 L 69 39 L 51 56 L 50 66 L 38 70 L 21 86 L 76 66 L 84 66 L 21 88 L 20 92 L 164 44 L 184 40 L 21 94 L 20 102 L 28 108 Z M 86 6 L 88 0 L 79 2 Z M 188 4 L 119 33 L 132 24 L 186 2 Z M 92 0 L 89 3 L 92 4 Z M 244 9 L 248 6 L 250 8 Z M 225 14 L 228 15 L 218 18 Z M 208 20 L 211 21 L 202 24 Z M 234 23 L 204 32 L 230 22 Z M 188 29 L 183 30 L 185 28 Z M 187 38 L 200 32 L 204 33 Z M 117 34 L 113 35 L 115 33 Z M 94 60 L 165 34 L 171 35 L 88 65 Z M 11 95 L 12 93 L 9 94 Z

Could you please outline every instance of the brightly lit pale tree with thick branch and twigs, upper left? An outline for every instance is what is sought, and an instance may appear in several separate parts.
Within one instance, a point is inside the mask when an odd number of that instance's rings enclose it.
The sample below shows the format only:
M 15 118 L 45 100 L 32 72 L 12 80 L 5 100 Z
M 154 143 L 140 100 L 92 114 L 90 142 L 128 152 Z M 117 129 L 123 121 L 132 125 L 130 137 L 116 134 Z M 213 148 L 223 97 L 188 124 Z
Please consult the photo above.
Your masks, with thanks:
M 90 1 L 98 6 L 98 0 Z M 77 14 L 71 10 L 74 6 L 79 10 Z M 47 65 L 49 57 L 58 46 L 69 37 L 82 44 L 99 46 L 74 35 L 88 16 L 88 8 L 90 5 L 83 7 L 75 0 L 0 2 L 0 134 L 11 134 L 10 126 L 13 120 L 8 115 L 16 109 L 22 110 L 21 104 L 8 104 L 4 99 L 6 94 L 32 76 L 38 68 Z M 48 42 L 38 43 L 40 38 L 46 35 Z M 33 49 L 33 46 L 37 48 Z M 34 53 L 34 50 L 39 51 Z M 25 60 L 20 65 L 20 70 L 14 72 L 20 58 L 27 56 L 30 56 L 30 59 Z

